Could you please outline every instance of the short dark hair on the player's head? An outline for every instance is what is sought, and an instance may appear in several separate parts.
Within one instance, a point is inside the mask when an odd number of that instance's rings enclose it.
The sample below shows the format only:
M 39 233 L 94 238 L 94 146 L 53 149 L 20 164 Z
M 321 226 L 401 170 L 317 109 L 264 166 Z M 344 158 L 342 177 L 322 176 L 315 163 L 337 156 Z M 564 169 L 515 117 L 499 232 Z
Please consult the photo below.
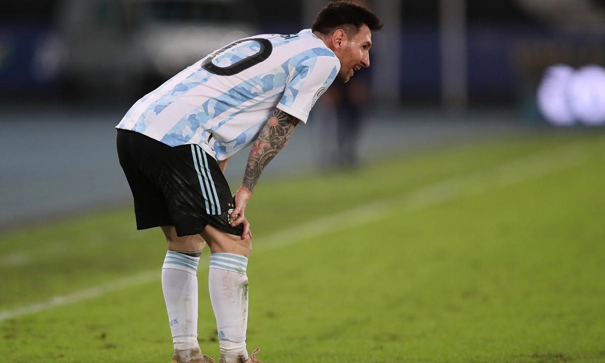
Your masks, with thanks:
M 328 35 L 342 29 L 346 33 L 357 34 L 364 25 L 376 31 L 381 30 L 384 24 L 370 10 L 353 2 L 330 1 L 319 11 L 311 30 Z

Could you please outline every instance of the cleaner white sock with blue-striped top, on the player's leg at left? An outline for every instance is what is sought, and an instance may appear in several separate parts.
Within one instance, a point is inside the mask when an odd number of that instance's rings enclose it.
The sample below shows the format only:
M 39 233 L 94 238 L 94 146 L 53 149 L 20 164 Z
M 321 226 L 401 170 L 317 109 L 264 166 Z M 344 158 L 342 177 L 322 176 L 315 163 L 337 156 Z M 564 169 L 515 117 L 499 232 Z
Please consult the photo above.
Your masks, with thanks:
M 175 351 L 200 347 L 197 342 L 196 276 L 199 262 L 199 257 L 168 251 L 162 266 L 162 290 Z

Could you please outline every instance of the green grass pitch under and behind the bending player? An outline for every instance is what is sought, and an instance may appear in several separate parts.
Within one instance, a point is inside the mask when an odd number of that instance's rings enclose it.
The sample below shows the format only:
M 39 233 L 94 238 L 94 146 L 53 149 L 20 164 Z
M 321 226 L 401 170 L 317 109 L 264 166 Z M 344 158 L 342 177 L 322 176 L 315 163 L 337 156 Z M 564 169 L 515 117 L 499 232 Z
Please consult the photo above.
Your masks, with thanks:
M 559 168 L 556 155 L 567 147 L 575 162 Z M 514 182 L 473 192 L 477 172 L 536 154 L 551 155 L 541 174 L 532 164 Z M 399 196 L 444 180 L 466 186 L 404 208 Z M 257 241 L 249 350 L 260 347 L 265 363 L 605 362 L 604 182 L 600 132 L 534 134 L 261 180 L 247 210 Z M 376 200 L 387 200 L 384 212 L 372 218 L 372 209 L 368 223 L 330 217 Z M 318 218 L 334 227 L 263 248 L 263 238 Z M 3 232 L 0 313 L 142 271 L 157 278 L 4 319 L 0 356 L 169 362 L 164 255 L 162 232 L 136 231 L 129 208 Z M 198 339 L 218 359 L 207 274 L 198 271 Z

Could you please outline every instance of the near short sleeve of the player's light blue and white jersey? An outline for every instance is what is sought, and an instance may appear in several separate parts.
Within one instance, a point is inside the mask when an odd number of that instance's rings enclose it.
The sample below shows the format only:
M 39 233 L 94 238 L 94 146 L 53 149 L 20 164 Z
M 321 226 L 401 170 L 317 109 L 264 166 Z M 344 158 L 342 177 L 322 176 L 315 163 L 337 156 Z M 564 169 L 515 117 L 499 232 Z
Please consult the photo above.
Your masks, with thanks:
M 290 73 L 277 108 L 307 123 L 309 111 L 334 82 L 339 70 L 340 61 L 336 57 L 321 56 L 301 62 Z

